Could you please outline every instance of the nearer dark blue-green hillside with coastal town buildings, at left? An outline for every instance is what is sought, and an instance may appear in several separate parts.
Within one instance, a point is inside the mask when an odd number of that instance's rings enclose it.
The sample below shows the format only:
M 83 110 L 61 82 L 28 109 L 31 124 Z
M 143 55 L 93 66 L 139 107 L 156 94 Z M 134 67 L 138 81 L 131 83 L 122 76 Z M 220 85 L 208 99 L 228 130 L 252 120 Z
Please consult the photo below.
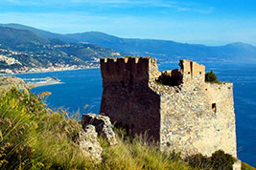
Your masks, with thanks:
M 31 31 L 0 27 L 0 69 L 86 66 L 115 54 L 119 53 L 92 44 L 66 43 Z

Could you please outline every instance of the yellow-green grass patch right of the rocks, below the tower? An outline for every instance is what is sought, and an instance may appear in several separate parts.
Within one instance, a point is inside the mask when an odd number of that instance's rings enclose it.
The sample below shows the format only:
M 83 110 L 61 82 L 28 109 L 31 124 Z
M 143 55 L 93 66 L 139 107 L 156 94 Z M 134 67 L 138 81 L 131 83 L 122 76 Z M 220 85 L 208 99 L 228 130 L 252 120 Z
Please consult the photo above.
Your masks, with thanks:
M 100 169 L 174 169 L 197 170 L 180 159 L 179 154 L 167 155 L 157 150 L 153 143 L 149 144 L 142 137 L 127 138 L 124 132 L 116 131 L 118 144 L 109 147 L 101 139 L 104 147 L 103 162 Z

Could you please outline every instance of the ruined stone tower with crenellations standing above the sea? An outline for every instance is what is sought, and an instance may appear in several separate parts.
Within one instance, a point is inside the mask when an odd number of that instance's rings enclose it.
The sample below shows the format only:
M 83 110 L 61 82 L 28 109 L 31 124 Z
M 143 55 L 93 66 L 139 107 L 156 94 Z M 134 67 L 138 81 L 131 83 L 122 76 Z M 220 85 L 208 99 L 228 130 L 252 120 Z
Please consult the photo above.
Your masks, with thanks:
M 211 156 L 221 149 L 237 158 L 233 84 L 206 83 L 196 62 L 179 66 L 160 73 L 151 57 L 101 59 L 101 113 L 131 135 L 147 132 L 162 151 Z

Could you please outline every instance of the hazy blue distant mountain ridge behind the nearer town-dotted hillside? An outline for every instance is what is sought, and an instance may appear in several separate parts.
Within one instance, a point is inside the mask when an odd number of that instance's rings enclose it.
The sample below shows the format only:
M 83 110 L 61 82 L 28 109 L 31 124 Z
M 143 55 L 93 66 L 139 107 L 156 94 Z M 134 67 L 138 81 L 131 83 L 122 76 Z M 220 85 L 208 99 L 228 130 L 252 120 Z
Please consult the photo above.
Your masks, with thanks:
M 45 32 L 18 24 L 4 24 L 2 26 L 30 30 L 48 39 L 58 38 L 69 43 L 91 43 L 128 55 L 151 55 L 160 61 L 176 61 L 179 58 L 197 61 L 256 61 L 256 47 L 244 43 L 231 43 L 225 46 L 205 46 L 178 43 L 171 40 L 120 38 L 104 32 L 60 34 Z

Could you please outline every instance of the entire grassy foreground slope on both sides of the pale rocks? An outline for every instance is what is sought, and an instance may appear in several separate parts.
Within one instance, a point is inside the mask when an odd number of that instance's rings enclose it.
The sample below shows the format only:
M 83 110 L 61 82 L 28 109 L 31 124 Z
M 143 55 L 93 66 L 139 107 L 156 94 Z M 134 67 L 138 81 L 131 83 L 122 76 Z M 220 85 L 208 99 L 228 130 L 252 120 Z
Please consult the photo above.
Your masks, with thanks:
M 104 148 L 103 161 L 92 162 L 72 139 L 82 130 L 80 122 L 63 110 L 48 109 L 43 102 L 48 95 L 35 96 L 27 89 L 0 89 L 0 169 L 204 168 L 200 162 L 195 164 L 195 159 L 185 162 L 175 152 L 161 153 L 153 143 L 141 137 L 128 138 L 121 130 L 116 130 L 115 146 L 99 138 Z

